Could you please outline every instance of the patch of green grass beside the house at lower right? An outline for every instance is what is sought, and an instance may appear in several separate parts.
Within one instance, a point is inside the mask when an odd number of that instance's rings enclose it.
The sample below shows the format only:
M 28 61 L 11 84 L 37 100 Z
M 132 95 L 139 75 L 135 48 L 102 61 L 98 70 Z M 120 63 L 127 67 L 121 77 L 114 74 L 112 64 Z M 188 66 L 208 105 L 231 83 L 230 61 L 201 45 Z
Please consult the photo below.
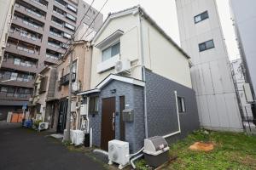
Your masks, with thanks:
M 165 169 L 242 169 L 256 170 L 256 137 L 244 133 L 219 133 L 201 129 L 170 146 L 170 156 L 177 156 Z M 189 150 L 195 142 L 211 142 L 211 152 Z M 138 169 L 148 169 L 146 162 L 137 162 Z

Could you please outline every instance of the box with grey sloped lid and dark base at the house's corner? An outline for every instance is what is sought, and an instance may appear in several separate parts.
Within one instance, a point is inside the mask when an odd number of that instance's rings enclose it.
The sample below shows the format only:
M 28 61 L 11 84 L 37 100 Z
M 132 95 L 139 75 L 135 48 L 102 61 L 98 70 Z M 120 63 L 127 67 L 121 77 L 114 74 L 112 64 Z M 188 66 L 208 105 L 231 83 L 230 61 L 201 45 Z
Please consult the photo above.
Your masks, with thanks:
M 144 139 L 144 157 L 150 167 L 160 167 L 169 160 L 168 144 L 160 136 Z

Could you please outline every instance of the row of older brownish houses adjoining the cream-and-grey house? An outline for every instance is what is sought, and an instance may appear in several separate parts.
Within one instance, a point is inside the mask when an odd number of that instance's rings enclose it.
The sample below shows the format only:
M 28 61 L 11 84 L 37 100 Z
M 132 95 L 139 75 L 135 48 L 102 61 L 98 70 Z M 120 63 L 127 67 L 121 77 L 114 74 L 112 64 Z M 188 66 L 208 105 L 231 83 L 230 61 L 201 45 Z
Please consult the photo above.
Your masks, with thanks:
M 72 129 L 80 128 L 86 117 L 81 116 L 79 105 L 79 91 L 90 89 L 90 42 L 84 40 L 73 43 L 73 71 L 72 71 Z M 70 52 L 62 58 L 62 63 L 47 66 L 40 71 L 35 82 L 32 101 L 29 105 L 30 116 L 43 122 L 49 122 L 49 127 L 57 133 L 63 133 L 66 127 L 69 59 Z

